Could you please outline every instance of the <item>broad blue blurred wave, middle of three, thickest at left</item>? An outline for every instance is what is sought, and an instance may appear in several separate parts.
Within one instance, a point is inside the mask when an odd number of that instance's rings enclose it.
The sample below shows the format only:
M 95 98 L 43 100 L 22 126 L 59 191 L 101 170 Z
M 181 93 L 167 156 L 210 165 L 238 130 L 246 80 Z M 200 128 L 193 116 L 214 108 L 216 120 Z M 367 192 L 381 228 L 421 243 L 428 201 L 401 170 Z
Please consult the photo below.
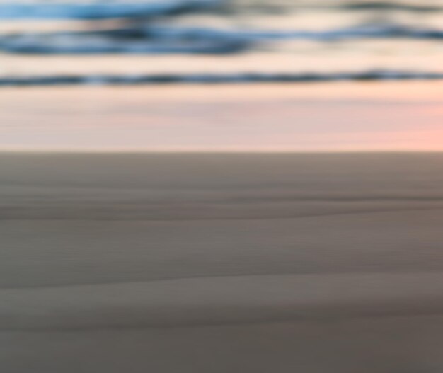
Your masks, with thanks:
M 23 54 L 224 54 L 276 40 L 337 42 L 355 39 L 442 40 L 443 30 L 367 24 L 324 31 L 229 30 L 132 25 L 112 30 L 18 33 L 0 36 L 0 50 Z

